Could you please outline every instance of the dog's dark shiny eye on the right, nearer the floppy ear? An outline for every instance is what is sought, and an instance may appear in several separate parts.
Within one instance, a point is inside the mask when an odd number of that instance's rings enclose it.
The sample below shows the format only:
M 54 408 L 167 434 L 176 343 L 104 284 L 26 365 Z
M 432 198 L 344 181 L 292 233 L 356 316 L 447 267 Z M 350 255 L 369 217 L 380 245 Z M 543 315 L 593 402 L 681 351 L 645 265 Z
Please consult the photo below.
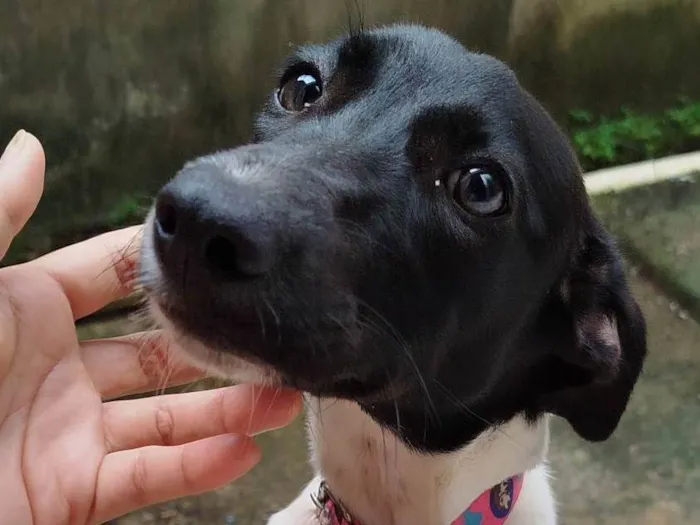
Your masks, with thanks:
M 506 211 L 506 174 L 498 166 L 473 165 L 456 170 L 447 177 L 452 198 L 469 213 L 499 215 Z

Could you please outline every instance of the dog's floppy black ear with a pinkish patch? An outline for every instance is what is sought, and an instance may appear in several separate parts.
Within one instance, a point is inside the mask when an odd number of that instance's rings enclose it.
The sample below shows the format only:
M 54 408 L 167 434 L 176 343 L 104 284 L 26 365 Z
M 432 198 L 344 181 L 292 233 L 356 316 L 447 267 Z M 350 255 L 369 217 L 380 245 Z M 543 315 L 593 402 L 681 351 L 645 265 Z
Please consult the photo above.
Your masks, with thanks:
M 544 410 L 557 414 L 589 441 L 617 428 L 646 357 L 646 322 L 632 297 L 622 258 L 593 218 L 557 293 L 570 331 L 556 349 L 558 374 L 544 394 Z M 573 342 L 573 344 L 571 344 Z

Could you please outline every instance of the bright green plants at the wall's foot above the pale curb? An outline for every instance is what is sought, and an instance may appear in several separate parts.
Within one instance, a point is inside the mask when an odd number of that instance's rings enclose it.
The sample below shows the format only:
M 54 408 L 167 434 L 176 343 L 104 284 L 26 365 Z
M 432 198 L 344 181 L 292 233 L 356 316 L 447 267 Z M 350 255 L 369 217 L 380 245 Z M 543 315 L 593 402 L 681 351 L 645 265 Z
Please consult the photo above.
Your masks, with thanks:
M 614 117 L 569 113 L 572 142 L 586 170 L 627 164 L 700 148 L 700 101 L 680 99 L 661 114 L 622 108 Z

